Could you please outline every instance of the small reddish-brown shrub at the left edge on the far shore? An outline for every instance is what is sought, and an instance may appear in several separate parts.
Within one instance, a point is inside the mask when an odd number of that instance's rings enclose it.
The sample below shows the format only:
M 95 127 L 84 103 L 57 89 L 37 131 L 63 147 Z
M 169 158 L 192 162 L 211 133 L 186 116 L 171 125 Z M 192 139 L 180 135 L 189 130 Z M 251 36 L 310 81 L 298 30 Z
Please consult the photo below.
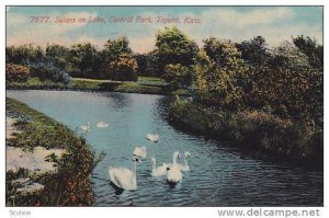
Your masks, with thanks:
M 5 79 L 8 81 L 25 82 L 30 78 L 30 69 L 14 64 L 5 65 Z

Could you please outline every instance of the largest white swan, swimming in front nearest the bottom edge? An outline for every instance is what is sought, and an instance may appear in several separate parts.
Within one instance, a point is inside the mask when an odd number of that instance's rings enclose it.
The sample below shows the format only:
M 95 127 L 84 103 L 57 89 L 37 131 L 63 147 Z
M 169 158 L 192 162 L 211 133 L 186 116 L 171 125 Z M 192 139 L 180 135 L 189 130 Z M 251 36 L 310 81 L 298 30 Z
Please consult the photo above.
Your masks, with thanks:
M 136 162 L 138 162 L 139 159 L 135 157 L 133 161 L 133 170 L 110 167 L 110 180 L 116 187 L 121 190 L 137 190 Z

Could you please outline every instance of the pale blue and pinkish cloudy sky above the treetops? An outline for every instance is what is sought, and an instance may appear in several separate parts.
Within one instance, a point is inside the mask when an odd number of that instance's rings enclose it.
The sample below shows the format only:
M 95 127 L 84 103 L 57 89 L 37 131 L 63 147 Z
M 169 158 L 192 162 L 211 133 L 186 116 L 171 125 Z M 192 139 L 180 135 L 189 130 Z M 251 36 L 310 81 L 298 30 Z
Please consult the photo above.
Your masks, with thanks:
M 33 16 L 49 19 L 37 23 Z M 138 16 L 150 18 L 151 23 L 141 23 Z M 158 22 L 160 16 L 180 23 Z M 64 18 L 76 20 L 56 23 Z M 78 22 L 80 18 L 86 22 Z M 90 18 L 104 22 L 88 22 Z M 113 22 L 114 18 L 133 18 L 133 22 Z M 189 18 L 200 23 L 185 23 Z M 90 42 L 101 49 L 109 38 L 125 35 L 134 51 L 148 53 L 155 48 L 157 32 L 172 25 L 200 46 L 209 36 L 238 43 L 259 35 L 270 47 L 296 35 L 307 35 L 322 44 L 321 7 L 7 7 L 7 46 Z

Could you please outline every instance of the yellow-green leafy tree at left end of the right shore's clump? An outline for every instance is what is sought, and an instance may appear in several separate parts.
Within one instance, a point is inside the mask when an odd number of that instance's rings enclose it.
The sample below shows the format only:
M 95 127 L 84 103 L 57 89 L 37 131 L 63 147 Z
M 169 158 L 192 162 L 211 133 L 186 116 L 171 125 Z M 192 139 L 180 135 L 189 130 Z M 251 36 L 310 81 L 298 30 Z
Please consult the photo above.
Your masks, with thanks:
M 249 66 L 241 59 L 241 53 L 230 41 L 211 37 L 204 41 L 209 66 L 197 66 L 195 77 L 202 101 L 206 104 L 240 110 L 243 94 L 251 89 Z

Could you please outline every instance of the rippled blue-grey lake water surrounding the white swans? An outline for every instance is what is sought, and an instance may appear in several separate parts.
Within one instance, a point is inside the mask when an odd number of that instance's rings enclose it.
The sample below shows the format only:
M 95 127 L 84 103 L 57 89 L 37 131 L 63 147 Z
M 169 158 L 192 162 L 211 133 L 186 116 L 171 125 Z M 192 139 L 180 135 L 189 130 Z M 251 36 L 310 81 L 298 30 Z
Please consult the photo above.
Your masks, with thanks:
M 76 130 L 91 123 L 84 137 L 106 157 L 92 173 L 94 206 L 321 206 L 322 172 L 257 160 L 173 128 L 167 121 L 168 96 L 75 91 L 7 91 L 16 99 Z M 98 122 L 110 124 L 97 128 Z M 159 142 L 145 139 L 157 133 Z M 137 165 L 137 191 L 121 195 L 110 185 L 109 167 L 132 168 L 136 146 L 147 147 Z M 150 158 L 171 162 L 172 153 L 190 151 L 190 172 L 170 187 L 152 177 Z M 182 160 L 181 160 L 182 161 Z

